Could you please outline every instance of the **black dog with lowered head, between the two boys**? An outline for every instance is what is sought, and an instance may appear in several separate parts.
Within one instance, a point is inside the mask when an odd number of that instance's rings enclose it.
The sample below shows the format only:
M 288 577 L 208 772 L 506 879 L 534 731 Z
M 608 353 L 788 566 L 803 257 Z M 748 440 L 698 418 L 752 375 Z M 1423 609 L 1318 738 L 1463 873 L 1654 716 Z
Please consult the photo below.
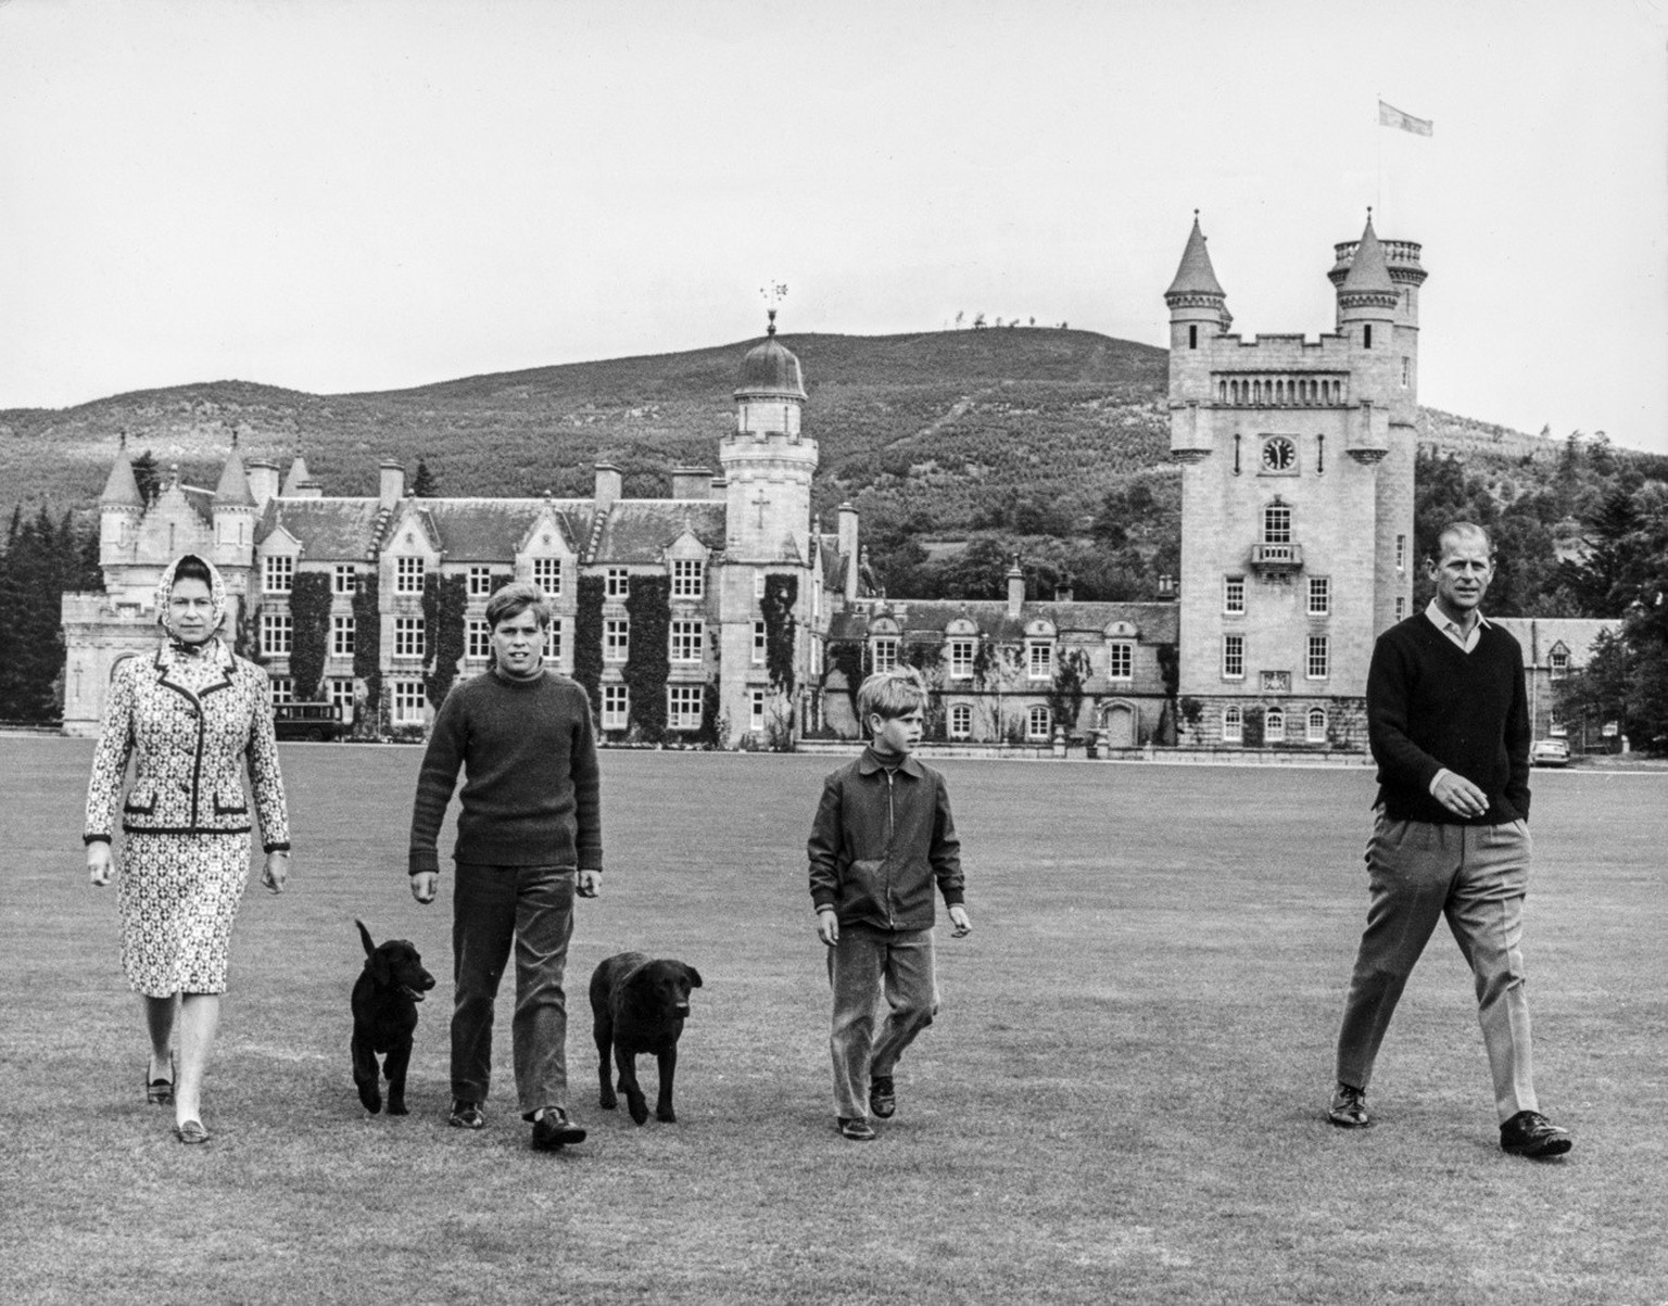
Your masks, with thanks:
M 681 961 L 649 961 L 642 952 L 620 952 L 604 961 L 590 976 L 590 1014 L 595 1021 L 597 1057 L 602 1076 L 602 1109 L 617 1104 L 609 1076 L 609 1049 L 619 1067 L 620 1093 L 631 1118 L 649 1119 L 649 1103 L 637 1086 L 637 1054 L 654 1052 L 661 1064 L 661 1093 L 654 1099 L 656 1119 L 677 1123 L 672 1111 L 672 1076 L 677 1072 L 677 1037 L 689 1016 L 689 991 L 701 987 L 701 972 Z

